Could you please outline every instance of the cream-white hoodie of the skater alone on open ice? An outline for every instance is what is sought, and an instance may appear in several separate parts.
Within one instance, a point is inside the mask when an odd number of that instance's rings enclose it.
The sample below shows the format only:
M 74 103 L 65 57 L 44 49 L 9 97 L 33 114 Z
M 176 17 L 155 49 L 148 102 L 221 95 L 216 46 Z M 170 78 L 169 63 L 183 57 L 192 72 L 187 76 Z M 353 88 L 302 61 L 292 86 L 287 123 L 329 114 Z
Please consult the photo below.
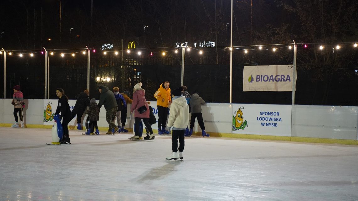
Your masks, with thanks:
M 188 127 L 189 106 L 184 96 L 178 95 L 171 99 L 168 128 L 173 126 L 173 130 L 183 130 Z

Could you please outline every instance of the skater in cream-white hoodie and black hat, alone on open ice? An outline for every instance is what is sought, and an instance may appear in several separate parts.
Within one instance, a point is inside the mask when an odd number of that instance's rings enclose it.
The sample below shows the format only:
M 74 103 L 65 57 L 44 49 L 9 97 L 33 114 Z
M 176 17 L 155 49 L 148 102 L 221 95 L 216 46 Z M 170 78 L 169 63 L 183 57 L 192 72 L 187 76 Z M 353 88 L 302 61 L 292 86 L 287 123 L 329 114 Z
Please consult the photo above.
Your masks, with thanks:
M 171 150 L 172 153 L 166 160 L 183 160 L 184 151 L 184 132 L 189 122 L 189 106 L 187 100 L 182 96 L 182 87 L 174 89 L 171 94 L 173 103 L 170 106 L 170 114 L 168 119 L 168 128 L 173 127 L 171 136 Z M 178 138 L 179 138 L 179 152 L 178 152 Z

